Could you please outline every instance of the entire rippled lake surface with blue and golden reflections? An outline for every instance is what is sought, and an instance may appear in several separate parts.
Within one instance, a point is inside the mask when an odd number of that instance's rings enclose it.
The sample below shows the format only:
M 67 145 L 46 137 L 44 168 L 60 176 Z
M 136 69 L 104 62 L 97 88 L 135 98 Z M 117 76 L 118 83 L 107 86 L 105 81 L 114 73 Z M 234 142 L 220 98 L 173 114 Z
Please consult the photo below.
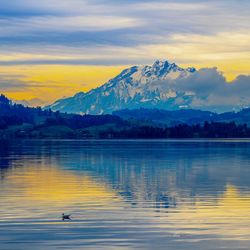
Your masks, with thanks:
M 250 141 L 1 142 L 0 249 L 249 250 Z

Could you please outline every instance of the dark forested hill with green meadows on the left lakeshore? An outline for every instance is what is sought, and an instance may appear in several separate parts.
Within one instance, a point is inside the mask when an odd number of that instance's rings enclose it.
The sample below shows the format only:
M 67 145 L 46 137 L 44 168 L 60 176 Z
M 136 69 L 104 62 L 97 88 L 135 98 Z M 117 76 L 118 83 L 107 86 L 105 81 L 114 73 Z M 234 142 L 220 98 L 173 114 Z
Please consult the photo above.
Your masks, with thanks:
M 24 107 L 0 96 L 0 138 L 85 137 L 88 136 L 86 128 L 123 126 L 125 123 L 114 115 L 74 115 L 42 110 L 41 107 Z

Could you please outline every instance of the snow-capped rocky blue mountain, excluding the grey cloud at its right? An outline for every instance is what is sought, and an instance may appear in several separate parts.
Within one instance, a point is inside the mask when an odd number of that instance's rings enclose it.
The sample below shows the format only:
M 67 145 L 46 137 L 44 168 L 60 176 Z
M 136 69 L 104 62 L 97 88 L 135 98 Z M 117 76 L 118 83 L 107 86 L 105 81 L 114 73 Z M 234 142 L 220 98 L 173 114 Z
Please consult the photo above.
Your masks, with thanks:
M 134 66 L 99 88 L 58 100 L 46 108 L 81 114 L 103 114 L 136 108 L 189 108 L 193 93 L 177 91 L 175 83 L 194 72 L 195 68 L 184 69 L 168 61 L 156 61 L 152 66 Z

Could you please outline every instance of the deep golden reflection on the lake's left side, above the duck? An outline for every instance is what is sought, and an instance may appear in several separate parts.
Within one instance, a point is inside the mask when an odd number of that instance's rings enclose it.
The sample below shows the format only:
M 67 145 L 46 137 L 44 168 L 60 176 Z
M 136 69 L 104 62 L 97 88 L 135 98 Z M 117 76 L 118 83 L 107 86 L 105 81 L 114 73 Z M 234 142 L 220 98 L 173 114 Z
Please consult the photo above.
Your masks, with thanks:
M 37 168 L 27 165 L 9 173 L 6 180 L 8 185 L 5 191 L 8 192 L 8 187 L 16 187 L 18 196 L 15 199 L 18 201 L 56 206 L 74 202 L 108 203 L 118 199 L 108 185 L 86 174 L 77 175 L 56 166 Z

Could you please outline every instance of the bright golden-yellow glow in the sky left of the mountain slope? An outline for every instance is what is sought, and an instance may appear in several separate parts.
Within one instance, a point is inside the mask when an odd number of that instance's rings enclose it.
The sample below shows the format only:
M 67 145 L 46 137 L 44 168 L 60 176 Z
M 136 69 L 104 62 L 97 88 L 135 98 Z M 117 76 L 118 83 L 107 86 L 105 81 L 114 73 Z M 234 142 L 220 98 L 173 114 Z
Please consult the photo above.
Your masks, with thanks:
M 58 98 L 96 88 L 116 76 L 123 68 L 85 65 L 1 66 L 0 75 L 19 75 L 19 80 L 27 82 L 24 88 L 9 88 L 1 92 L 17 100 L 40 98 L 50 103 Z

